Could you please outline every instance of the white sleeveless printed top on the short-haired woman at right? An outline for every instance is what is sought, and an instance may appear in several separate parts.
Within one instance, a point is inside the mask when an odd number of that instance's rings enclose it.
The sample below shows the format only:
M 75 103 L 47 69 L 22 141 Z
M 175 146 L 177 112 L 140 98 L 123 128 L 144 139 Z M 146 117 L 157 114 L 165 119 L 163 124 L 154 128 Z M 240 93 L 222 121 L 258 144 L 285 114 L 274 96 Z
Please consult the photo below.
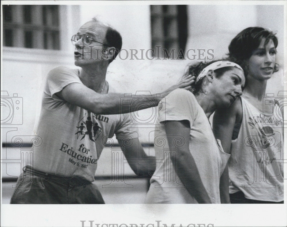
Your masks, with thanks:
M 228 161 L 229 192 L 242 191 L 252 200 L 281 202 L 283 188 L 283 124 L 265 115 L 246 99 L 242 123 L 232 141 Z M 274 120 L 275 119 L 275 120 Z

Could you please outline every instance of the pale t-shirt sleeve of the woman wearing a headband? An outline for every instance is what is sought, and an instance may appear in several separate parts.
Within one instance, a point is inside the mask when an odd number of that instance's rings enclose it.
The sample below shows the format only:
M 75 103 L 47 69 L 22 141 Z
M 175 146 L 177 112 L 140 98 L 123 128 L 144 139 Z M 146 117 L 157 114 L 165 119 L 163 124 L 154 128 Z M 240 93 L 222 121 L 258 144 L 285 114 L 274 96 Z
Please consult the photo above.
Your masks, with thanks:
M 161 101 L 162 103 L 158 105 L 158 121 L 160 123 L 188 120 L 190 125 L 193 124 L 199 104 L 190 91 L 176 89 Z

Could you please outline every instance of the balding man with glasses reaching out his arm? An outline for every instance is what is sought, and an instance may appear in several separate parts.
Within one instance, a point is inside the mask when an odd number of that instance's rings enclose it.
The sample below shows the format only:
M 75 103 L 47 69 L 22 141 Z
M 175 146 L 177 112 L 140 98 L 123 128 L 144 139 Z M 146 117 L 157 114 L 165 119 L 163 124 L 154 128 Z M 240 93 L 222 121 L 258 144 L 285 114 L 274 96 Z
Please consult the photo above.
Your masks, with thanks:
M 34 163 L 18 178 L 13 204 L 103 204 L 92 182 L 102 149 L 114 134 L 139 177 L 150 178 L 154 172 L 155 163 L 148 163 L 137 133 L 128 130 L 132 105 L 121 106 L 123 94 L 106 82 L 108 65 L 121 49 L 121 35 L 93 19 L 71 42 L 75 65 L 81 69 L 58 67 L 49 72 L 35 130 L 42 145 L 34 147 Z M 192 79 L 172 86 L 161 97 L 154 95 L 149 107 L 176 88 L 189 89 Z

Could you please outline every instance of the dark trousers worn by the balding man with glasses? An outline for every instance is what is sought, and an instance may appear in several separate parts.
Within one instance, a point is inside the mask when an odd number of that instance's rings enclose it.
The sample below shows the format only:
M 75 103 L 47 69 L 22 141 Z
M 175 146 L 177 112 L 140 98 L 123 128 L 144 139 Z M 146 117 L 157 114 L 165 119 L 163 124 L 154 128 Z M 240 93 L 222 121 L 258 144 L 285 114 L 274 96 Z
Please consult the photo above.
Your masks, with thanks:
M 98 187 L 81 177 L 62 177 L 24 167 L 11 204 L 104 204 Z

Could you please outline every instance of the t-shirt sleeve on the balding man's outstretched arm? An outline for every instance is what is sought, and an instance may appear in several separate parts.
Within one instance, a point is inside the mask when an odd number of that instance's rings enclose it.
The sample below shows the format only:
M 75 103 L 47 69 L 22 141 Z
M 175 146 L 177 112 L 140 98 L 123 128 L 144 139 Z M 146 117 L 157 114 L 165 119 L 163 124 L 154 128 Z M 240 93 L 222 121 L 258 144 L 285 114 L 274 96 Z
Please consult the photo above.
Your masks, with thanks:
M 71 83 L 81 83 L 77 69 L 70 69 L 63 66 L 57 67 L 48 73 L 45 93 L 53 99 L 59 99 L 55 93 L 61 91 Z

